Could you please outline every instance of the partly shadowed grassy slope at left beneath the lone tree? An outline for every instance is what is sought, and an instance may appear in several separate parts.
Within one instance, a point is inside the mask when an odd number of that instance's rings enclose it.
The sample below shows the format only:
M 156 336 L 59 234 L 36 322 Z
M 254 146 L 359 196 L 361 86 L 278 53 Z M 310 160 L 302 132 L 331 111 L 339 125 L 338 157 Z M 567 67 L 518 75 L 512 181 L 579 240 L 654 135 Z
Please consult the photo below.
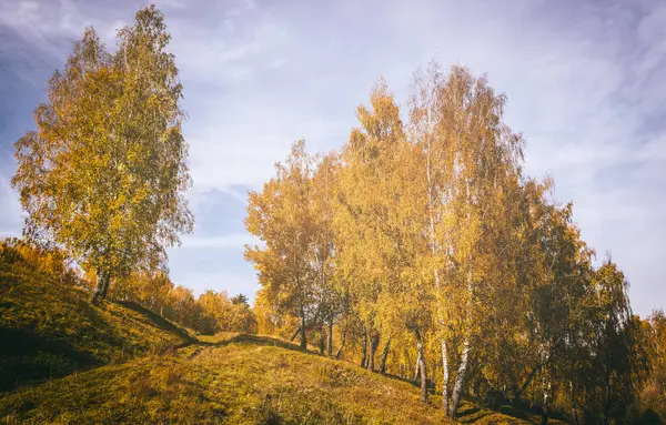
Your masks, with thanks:
M 88 294 L 26 264 L 0 261 L 0 392 L 195 341 L 132 304 Z

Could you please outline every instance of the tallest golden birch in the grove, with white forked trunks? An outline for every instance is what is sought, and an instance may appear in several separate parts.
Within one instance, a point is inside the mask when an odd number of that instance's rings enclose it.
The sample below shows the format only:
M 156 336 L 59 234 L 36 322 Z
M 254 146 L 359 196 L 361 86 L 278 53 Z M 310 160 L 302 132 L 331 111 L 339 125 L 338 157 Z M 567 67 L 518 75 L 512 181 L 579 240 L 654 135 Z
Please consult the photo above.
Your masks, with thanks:
M 484 78 L 453 67 L 444 77 L 436 64 L 417 73 L 411 109 L 412 142 L 423 152 L 431 269 L 442 326 L 444 408 L 455 417 L 468 368 L 476 316 L 484 305 L 476 293 L 493 281 L 487 273 L 496 260 L 488 250 L 493 210 L 501 208 L 503 189 L 519 179 L 522 139 L 503 122 L 505 98 Z M 497 214 L 501 215 L 501 214 Z M 491 242 L 492 243 L 492 242 Z M 446 283 L 442 275 L 446 275 Z M 457 332 L 462 347 L 454 386 L 447 341 Z

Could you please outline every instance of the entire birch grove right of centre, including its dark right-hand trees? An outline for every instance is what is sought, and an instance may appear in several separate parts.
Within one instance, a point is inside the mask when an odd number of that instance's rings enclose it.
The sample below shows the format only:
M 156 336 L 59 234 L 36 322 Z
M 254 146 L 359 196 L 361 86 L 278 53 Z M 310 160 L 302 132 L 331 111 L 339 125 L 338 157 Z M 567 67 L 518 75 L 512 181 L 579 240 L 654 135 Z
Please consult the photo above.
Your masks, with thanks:
M 336 334 L 336 356 L 421 382 L 423 401 L 436 383 L 452 417 L 473 394 L 619 423 L 648 370 L 628 283 L 593 265 L 552 179 L 524 174 L 505 104 L 485 77 L 432 62 L 405 117 L 380 80 L 340 150 L 296 142 L 249 196 L 260 332 L 302 347 L 309 333 L 322 353 Z

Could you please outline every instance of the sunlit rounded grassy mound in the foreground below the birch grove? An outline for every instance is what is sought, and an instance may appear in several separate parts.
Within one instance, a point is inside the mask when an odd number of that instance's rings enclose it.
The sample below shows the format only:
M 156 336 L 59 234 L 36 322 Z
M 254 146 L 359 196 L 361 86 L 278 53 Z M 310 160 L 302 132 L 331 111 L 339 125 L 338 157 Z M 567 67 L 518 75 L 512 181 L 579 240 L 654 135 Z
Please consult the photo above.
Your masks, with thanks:
M 442 424 L 410 383 L 266 336 L 200 342 L 0 398 L 2 423 Z M 525 424 L 474 406 L 465 422 Z M 537 418 L 533 418 L 537 422 Z

